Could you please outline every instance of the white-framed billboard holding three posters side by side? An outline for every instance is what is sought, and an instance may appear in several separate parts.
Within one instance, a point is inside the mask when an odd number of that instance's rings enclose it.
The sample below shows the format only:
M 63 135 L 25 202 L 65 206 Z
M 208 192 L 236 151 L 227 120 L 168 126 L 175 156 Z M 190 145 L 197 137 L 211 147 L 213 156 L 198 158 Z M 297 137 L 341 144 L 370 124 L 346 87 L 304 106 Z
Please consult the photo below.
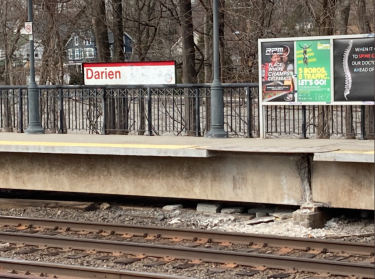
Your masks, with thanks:
M 261 104 L 373 104 L 374 43 L 373 34 L 259 39 Z

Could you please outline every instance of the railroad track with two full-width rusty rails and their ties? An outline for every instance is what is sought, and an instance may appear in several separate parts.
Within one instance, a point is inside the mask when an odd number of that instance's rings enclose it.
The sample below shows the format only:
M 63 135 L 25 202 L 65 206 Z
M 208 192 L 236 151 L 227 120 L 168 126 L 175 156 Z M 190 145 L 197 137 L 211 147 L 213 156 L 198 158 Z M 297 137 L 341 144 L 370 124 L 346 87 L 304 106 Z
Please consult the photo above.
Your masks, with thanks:
M 235 263 L 232 267 L 237 265 L 265 266 L 283 270 L 327 272 L 334 275 L 354 275 L 365 278 L 375 277 L 374 265 L 371 263 L 314 258 L 328 251 L 337 253 L 336 259 L 347 258 L 350 254 L 373 256 L 374 246 L 364 243 L 8 216 L 0 216 L 0 224 L 5 228 L 10 226 L 12 228 L 0 232 L 0 241 L 9 243 L 11 245 L 9 249 L 15 249 L 17 245 L 19 248 L 21 244 L 31 247 L 31 250 L 53 248 L 65 249 L 65 251 L 83 251 L 80 256 L 98 252 L 106 253 L 106 258 L 125 255 L 123 263 L 140 261 L 145 257 L 156 257 L 158 263 L 161 262 L 161 264 L 175 259 L 183 259 L 190 260 L 192 265 L 213 262 L 226 263 L 226 266 L 229 266 L 230 263 Z M 48 232 L 45 231 L 46 229 L 51 230 L 53 234 L 74 231 L 76 232 L 75 236 L 79 236 L 79 238 L 43 234 Z M 82 237 L 89 232 L 104 237 L 114 237 L 118 234 L 119 237 L 116 238 L 116 241 Z M 132 237 L 142 237 L 148 241 L 166 239 L 168 244 L 126 242 Z M 185 243 L 185 240 L 189 240 L 189 242 Z M 182 242 L 184 246 L 179 244 Z M 174 244 L 171 245 L 172 243 Z M 246 245 L 246 247 L 240 246 L 242 248 L 235 251 L 196 248 L 198 245 L 208 243 L 217 243 L 221 247 L 230 247 L 234 243 Z M 270 249 L 272 253 L 259 253 L 258 251 L 261 249 Z M 298 251 L 298 256 L 288 255 L 295 250 Z M 188 266 L 192 266 L 191 264 Z

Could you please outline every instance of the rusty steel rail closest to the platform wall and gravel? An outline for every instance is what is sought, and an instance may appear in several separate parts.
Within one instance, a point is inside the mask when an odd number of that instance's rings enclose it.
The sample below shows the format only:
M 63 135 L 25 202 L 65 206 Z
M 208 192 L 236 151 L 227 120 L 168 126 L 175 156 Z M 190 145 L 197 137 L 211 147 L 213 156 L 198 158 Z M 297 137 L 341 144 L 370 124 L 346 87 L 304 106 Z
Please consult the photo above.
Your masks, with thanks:
M 275 235 L 232 233 L 211 230 L 180 229 L 157 226 L 125 225 L 113 223 L 81 222 L 70 220 L 0 216 L 1 225 L 26 225 L 49 229 L 63 228 L 73 231 L 98 232 L 112 234 L 157 235 L 162 238 L 182 238 L 186 240 L 206 239 L 212 242 L 232 242 L 238 244 L 255 243 L 261 246 L 289 247 L 299 250 L 320 250 L 326 252 L 346 252 L 349 254 L 372 256 L 374 245 L 337 240 L 285 237 Z

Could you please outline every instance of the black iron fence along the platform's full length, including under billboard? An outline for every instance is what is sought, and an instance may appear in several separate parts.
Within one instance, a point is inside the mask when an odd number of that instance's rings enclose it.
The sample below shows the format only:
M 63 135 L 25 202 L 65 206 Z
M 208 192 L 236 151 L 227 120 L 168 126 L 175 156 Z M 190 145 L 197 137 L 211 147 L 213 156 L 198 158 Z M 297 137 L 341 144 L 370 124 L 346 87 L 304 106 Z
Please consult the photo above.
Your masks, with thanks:
M 223 84 L 224 128 L 259 137 L 256 83 Z M 203 136 L 210 123 L 210 84 L 40 86 L 40 122 L 49 133 Z M 265 106 L 267 137 L 373 138 L 374 106 Z M 27 87 L 0 87 L 0 131 L 27 127 Z

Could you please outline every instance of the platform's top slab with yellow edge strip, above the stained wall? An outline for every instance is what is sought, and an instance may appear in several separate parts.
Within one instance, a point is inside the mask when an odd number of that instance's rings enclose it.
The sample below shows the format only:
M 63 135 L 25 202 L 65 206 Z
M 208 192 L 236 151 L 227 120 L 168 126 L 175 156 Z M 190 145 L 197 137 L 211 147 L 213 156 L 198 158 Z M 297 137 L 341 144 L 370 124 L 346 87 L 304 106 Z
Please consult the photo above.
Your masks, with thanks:
M 221 152 L 314 154 L 318 161 L 375 162 L 374 141 L 0 133 L 0 152 L 210 157 Z

